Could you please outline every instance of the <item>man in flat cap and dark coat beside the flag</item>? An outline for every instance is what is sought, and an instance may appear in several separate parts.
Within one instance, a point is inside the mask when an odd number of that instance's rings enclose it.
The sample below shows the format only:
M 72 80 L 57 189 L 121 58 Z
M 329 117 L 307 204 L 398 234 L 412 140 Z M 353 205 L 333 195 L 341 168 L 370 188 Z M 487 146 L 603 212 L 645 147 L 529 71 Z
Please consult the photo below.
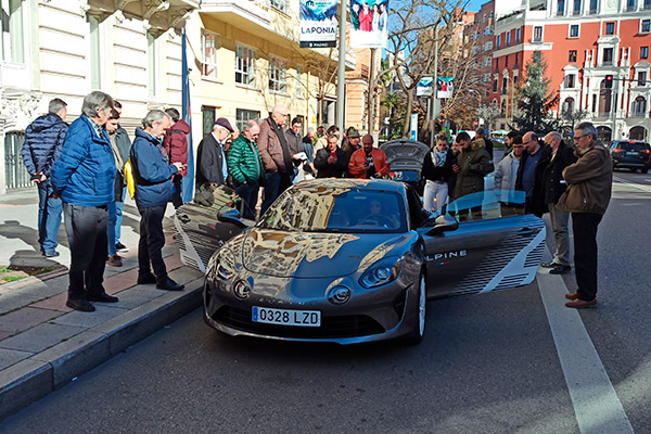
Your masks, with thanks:
M 199 143 L 196 163 L 196 188 L 208 184 L 212 188 L 224 186 L 228 179 L 226 141 L 233 127 L 226 117 L 215 120 L 213 132 Z

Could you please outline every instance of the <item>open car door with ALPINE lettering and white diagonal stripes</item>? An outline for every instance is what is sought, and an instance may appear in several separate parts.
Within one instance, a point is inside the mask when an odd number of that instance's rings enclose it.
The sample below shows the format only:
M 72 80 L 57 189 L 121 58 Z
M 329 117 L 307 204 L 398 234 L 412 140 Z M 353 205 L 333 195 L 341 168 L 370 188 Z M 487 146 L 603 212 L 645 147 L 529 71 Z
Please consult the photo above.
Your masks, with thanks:
M 524 192 L 510 192 L 509 207 L 498 197 L 501 192 L 494 190 L 460 197 L 418 229 L 425 243 L 429 296 L 502 290 L 534 280 L 545 248 L 545 222 L 522 214 L 518 202 L 524 203 Z

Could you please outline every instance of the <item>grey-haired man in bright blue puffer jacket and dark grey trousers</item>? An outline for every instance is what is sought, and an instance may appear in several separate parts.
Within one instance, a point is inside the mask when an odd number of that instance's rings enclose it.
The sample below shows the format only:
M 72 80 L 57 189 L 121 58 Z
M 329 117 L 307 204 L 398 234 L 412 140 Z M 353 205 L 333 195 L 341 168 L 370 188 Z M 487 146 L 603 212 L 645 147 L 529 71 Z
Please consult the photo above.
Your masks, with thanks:
M 72 256 L 66 306 L 82 311 L 94 310 L 89 302 L 117 302 L 102 286 L 108 203 L 115 186 L 115 159 L 104 127 L 112 108 L 106 93 L 86 95 L 81 116 L 71 125 L 52 168 L 52 195 L 63 200 Z

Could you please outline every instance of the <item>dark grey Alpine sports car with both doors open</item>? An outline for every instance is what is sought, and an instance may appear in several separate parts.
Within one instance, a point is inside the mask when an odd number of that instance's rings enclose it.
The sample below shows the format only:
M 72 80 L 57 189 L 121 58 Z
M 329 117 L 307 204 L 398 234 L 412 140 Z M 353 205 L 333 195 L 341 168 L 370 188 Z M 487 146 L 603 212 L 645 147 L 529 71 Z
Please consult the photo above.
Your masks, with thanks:
M 545 225 L 500 217 L 498 197 L 475 193 L 429 215 L 408 183 L 317 179 L 291 187 L 257 222 L 188 204 L 175 224 L 182 261 L 205 271 L 204 319 L 222 333 L 418 343 L 427 298 L 535 278 Z

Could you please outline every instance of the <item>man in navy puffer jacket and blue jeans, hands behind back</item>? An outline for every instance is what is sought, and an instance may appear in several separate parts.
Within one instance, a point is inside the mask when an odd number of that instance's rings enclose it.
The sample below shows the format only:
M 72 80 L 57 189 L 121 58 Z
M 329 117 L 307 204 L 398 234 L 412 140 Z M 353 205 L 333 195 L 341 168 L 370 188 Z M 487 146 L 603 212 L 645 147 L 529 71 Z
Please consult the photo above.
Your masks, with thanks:
M 38 243 L 46 257 L 59 256 L 56 234 L 63 212 L 61 199 L 51 197 L 50 171 L 63 148 L 68 129 L 67 104 L 59 98 L 50 101 L 48 114 L 37 117 L 25 130 L 21 154 L 31 180 L 38 187 Z

